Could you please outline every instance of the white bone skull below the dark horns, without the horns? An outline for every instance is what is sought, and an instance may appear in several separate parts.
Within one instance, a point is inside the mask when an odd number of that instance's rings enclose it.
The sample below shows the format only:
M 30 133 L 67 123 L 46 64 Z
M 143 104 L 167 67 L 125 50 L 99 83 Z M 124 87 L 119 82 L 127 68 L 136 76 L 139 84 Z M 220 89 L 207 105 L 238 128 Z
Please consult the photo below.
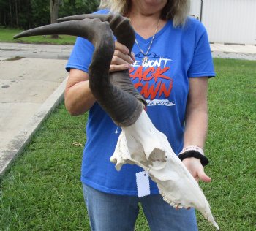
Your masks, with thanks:
M 146 112 L 143 110 L 135 124 L 121 129 L 116 150 L 110 158 L 110 162 L 116 164 L 116 170 L 120 170 L 123 164 L 143 167 L 157 183 L 168 204 L 175 208 L 196 208 L 219 230 L 202 189 Z

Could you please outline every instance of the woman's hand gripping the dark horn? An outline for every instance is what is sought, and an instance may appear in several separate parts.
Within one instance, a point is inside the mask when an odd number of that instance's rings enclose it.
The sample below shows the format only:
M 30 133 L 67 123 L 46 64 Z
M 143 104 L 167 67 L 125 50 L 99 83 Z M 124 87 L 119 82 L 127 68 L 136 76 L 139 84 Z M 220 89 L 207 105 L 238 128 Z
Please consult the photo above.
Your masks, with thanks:
M 120 42 L 115 42 L 115 52 L 110 64 L 110 72 L 123 71 L 130 69 L 131 64 L 135 62 L 135 56 L 133 53 L 129 54 L 129 49 L 122 45 Z

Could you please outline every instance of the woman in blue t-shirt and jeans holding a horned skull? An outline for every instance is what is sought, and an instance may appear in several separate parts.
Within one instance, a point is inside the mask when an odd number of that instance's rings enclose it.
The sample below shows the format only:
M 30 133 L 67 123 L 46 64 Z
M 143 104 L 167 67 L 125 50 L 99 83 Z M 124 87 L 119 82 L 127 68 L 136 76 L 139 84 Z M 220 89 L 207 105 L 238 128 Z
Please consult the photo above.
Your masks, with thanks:
M 203 146 L 208 77 L 215 73 L 206 29 L 187 18 L 189 0 L 105 0 L 100 8 L 108 10 L 97 13 L 110 10 L 126 16 L 136 32 L 132 56 L 116 42 L 110 72 L 129 69 L 132 83 L 148 102 L 154 126 L 167 135 L 197 181 L 211 181 L 203 169 Z M 135 175 L 140 167 L 126 164 L 117 172 L 110 163 L 120 128 L 91 94 L 88 67 L 93 50 L 78 37 L 67 64 L 65 91 L 72 116 L 89 110 L 81 180 L 91 230 L 134 230 L 139 202 L 151 230 L 197 230 L 195 211 L 167 205 L 153 181 L 150 194 L 138 198 Z

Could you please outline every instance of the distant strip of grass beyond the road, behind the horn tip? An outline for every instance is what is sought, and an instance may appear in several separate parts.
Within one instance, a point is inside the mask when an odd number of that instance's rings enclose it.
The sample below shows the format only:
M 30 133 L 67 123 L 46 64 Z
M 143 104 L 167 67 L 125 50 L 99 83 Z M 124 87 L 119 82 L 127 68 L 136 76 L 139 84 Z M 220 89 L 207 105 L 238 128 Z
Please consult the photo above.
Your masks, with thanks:
M 69 35 L 59 35 L 59 39 L 52 39 L 50 36 L 34 36 L 25 37 L 21 39 L 13 39 L 16 34 L 23 30 L 18 29 L 1 29 L 0 28 L 0 42 L 20 42 L 20 43 L 37 43 L 37 44 L 59 44 L 59 45 L 73 45 L 75 37 Z

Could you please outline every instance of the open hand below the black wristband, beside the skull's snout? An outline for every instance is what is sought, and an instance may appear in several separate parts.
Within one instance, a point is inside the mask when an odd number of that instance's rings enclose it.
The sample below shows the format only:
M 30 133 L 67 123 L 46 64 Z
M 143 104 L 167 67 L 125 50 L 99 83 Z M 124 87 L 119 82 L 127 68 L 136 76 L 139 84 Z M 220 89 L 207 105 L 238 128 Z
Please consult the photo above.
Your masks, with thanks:
M 204 182 L 211 182 L 211 178 L 206 175 L 203 165 L 200 162 L 200 159 L 190 157 L 185 158 L 182 161 L 187 169 L 189 170 L 189 173 L 195 178 L 197 182 L 204 181 Z

